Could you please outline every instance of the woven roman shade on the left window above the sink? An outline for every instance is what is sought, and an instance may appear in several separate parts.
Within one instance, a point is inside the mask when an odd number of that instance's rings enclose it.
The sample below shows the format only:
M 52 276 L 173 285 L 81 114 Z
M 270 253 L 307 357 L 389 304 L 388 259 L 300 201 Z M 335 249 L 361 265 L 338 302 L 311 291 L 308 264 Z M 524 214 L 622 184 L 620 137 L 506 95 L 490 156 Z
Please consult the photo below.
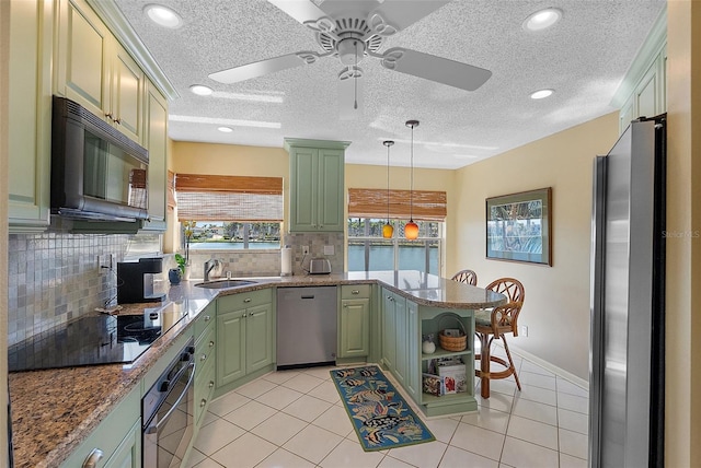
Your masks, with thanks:
M 283 178 L 176 174 L 177 218 L 281 222 Z

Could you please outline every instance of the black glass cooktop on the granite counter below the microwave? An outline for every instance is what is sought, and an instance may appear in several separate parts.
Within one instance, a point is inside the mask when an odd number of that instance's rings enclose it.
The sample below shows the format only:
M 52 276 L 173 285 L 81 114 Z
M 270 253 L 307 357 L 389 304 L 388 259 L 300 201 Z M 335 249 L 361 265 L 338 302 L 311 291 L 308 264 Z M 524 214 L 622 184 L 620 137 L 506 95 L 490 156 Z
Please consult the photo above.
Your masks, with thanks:
M 129 364 L 184 314 L 146 309 L 139 315 L 89 315 L 10 347 L 10 372 Z

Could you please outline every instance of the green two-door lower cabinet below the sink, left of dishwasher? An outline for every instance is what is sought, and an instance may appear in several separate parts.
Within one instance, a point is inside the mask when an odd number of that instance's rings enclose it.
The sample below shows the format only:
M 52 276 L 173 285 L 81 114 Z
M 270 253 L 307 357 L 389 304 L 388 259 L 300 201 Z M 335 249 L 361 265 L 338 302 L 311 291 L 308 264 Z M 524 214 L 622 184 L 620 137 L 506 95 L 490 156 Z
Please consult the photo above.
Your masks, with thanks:
M 272 302 L 231 312 L 219 308 L 217 388 L 273 365 L 274 323 Z

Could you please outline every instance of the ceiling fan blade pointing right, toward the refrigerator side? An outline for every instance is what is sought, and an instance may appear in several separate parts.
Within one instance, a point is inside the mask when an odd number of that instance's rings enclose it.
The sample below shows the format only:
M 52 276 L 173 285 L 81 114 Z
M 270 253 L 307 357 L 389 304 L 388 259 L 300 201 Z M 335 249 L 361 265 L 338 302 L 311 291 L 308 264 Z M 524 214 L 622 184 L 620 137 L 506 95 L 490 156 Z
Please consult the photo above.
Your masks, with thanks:
M 436 81 L 466 91 L 474 91 L 492 77 L 490 70 L 459 61 L 394 47 L 382 54 L 382 67 Z

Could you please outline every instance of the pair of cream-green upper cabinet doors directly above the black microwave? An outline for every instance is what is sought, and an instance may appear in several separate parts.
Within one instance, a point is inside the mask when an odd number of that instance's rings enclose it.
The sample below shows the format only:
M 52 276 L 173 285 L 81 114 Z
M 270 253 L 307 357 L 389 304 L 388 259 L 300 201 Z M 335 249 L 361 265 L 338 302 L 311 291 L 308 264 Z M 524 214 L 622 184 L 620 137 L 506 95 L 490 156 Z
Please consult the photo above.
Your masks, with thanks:
M 84 1 L 58 4 L 56 94 L 143 144 L 143 72 Z

